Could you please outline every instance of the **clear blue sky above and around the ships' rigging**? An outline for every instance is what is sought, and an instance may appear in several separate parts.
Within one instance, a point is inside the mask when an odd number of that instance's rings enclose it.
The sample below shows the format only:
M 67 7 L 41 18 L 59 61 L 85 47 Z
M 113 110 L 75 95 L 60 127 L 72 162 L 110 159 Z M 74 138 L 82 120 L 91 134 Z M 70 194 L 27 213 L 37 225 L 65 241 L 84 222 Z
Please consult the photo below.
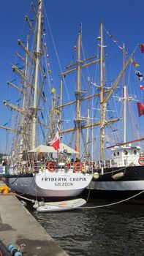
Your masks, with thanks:
M 18 49 L 17 40 L 23 39 L 24 17 L 29 13 L 31 0 L 1 1 L 0 8 L 0 124 L 9 118 L 2 101 L 7 99 L 7 80 L 12 79 L 10 64 L 15 63 L 15 52 Z M 115 39 L 126 44 L 129 53 L 137 43 L 144 43 L 143 0 L 44 0 L 50 29 L 56 44 L 61 67 L 69 60 L 72 48 L 77 39 L 79 24 L 83 24 L 83 42 L 87 49 L 93 48 L 99 35 L 99 25 L 102 21 L 107 31 Z M 144 53 L 143 53 L 144 54 Z M 139 60 L 137 57 L 137 60 Z M 141 58 L 144 70 L 144 58 Z M 54 65 L 54 64 L 53 64 Z M 60 72 L 57 67 L 56 72 Z M 143 116 L 141 117 L 142 121 Z M 0 130 L 0 152 L 4 151 L 6 133 Z

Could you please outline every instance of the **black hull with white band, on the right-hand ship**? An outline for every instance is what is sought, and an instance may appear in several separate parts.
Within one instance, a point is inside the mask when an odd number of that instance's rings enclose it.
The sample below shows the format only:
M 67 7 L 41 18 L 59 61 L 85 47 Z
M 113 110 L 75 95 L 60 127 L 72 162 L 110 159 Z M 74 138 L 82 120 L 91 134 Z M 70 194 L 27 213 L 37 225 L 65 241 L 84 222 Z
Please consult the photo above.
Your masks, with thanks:
M 124 200 L 133 197 L 129 201 L 137 200 L 144 203 L 144 166 L 105 168 L 103 175 L 101 170 L 94 170 L 94 172 L 99 173 L 99 178 L 93 178 L 85 191 L 88 195 L 90 190 L 90 197 L 108 200 Z M 112 178 L 114 174 L 121 172 L 124 176 L 118 179 Z M 137 195 L 138 193 L 140 195 Z

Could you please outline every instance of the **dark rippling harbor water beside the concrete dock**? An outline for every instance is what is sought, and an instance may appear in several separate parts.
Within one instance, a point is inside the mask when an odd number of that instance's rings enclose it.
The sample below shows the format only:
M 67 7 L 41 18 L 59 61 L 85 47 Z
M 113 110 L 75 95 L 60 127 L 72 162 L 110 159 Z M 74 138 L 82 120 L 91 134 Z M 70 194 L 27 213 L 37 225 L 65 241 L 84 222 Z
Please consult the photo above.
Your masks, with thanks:
M 86 207 L 107 203 L 111 202 L 91 199 Z M 69 255 L 144 255 L 144 205 L 120 203 L 57 213 L 30 211 Z

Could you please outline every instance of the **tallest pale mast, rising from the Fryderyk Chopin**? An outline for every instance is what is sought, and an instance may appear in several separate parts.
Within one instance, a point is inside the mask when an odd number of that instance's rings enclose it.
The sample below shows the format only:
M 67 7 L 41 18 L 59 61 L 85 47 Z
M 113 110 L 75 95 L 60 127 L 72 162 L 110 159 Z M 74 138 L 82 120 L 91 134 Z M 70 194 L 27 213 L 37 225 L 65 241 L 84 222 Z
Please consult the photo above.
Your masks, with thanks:
M 37 86 L 38 86 L 38 75 L 39 75 L 39 57 L 40 57 L 40 36 L 41 36 L 41 19 L 42 19 L 42 0 L 39 1 L 38 7 L 38 28 L 37 28 L 37 52 L 36 56 L 36 70 L 35 70 L 35 82 L 34 82 L 34 108 L 32 116 L 32 148 L 35 147 L 36 140 L 36 121 L 37 121 Z

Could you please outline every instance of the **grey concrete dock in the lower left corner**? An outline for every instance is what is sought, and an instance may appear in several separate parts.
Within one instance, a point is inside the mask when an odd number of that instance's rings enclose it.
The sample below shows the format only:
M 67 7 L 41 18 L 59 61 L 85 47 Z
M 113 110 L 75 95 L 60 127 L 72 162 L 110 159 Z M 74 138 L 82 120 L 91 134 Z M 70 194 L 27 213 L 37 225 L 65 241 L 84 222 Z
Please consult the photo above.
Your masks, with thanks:
M 0 239 L 5 246 L 21 247 L 25 256 L 68 256 L 15 195 L 0 195 Z

